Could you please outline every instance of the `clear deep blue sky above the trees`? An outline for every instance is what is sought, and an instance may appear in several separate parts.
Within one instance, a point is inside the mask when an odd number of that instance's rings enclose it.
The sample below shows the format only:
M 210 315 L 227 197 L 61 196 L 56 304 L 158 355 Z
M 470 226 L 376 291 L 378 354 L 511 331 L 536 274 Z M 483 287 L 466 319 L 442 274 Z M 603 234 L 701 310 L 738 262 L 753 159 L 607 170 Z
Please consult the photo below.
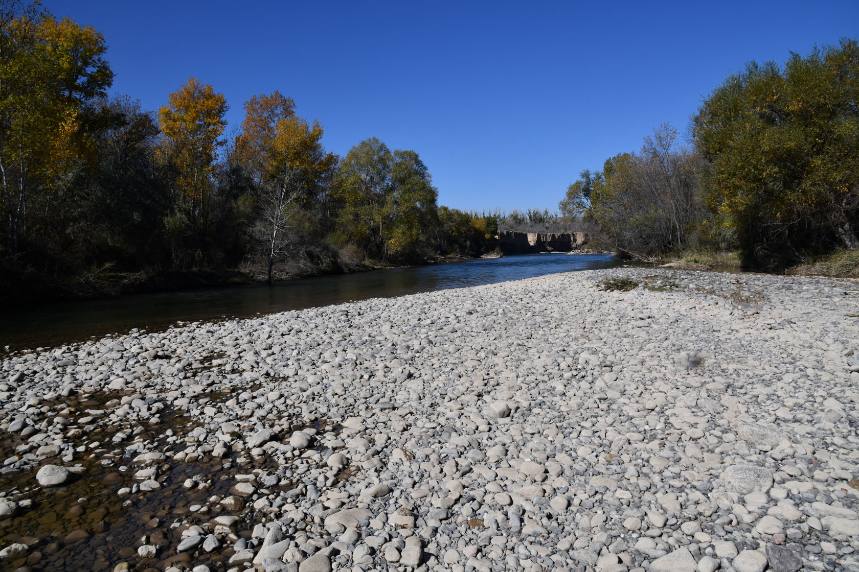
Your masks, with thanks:
M 191 75 L 230 128 L 279 90 L 344 155 L 414 149 L 439 204 L 557 208 L 582 169 L 636 151 L 749 60 L 859 35 L 859 1 L 116 2 L 44 0 L 105 35 L 113 90 L 156 110 Z

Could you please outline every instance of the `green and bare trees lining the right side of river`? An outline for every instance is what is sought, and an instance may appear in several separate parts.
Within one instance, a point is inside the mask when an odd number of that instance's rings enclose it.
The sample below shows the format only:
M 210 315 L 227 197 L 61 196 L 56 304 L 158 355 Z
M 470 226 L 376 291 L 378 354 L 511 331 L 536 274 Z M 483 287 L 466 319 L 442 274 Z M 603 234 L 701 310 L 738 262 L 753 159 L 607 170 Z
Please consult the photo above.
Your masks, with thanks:
M 584 171 L 559 208 L 631 258 L 739 249 L 785 268 L 859 249 L 859 45 L 748 63 L 704 99 L 691 146 L 664 124 Z

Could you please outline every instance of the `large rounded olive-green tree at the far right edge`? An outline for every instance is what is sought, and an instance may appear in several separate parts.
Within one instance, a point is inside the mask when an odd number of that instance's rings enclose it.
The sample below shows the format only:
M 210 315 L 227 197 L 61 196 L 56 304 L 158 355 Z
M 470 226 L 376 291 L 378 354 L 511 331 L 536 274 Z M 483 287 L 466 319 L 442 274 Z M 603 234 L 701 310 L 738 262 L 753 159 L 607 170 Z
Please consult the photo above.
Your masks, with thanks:
M 749 63 L 694 118 L 710 203 L 758 262 L 859 248 L 859 44 Z

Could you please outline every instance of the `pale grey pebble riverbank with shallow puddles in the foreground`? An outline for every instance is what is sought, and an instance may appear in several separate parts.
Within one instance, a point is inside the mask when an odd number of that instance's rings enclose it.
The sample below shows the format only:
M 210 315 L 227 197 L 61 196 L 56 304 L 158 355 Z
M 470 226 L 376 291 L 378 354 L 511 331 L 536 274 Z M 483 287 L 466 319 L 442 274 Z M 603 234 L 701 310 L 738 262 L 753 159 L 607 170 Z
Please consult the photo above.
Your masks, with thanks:
M 0 568 L 859 570 L 856 351 L 855 281 L 616 268 L 18 354 Z

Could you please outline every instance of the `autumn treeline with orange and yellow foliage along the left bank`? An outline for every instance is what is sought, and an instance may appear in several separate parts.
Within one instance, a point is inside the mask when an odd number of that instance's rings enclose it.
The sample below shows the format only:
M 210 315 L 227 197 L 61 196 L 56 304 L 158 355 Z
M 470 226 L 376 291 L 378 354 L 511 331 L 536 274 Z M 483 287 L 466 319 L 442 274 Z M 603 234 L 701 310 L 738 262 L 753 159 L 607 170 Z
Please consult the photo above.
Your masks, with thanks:
M 231 139 L 228 102 L 193 77 L 155 112 L 108 97 L 106 51 L 92 27 L 0 3 L 0 293 L 480 256 L 499 224 L 547 225 L 548 211 L 439 207 L 417 152 L 375 137 L 327 152 L 277 91 L 244 102 Z

